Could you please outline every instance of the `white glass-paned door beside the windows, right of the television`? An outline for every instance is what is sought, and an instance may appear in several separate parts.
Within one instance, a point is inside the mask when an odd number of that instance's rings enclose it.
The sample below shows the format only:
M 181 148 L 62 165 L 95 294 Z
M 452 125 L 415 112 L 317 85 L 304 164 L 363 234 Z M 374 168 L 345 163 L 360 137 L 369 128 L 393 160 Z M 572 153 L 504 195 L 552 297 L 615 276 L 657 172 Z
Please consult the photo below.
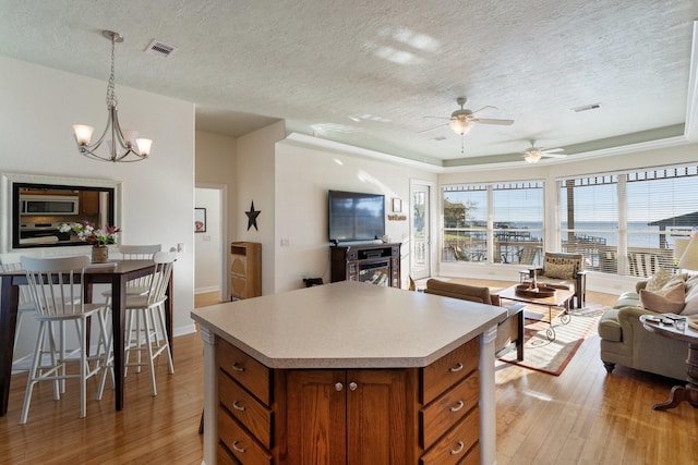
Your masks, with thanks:
M 425 279 L 432 273 L 432 184 L 410 181 L 410 276 L 414 280 Z

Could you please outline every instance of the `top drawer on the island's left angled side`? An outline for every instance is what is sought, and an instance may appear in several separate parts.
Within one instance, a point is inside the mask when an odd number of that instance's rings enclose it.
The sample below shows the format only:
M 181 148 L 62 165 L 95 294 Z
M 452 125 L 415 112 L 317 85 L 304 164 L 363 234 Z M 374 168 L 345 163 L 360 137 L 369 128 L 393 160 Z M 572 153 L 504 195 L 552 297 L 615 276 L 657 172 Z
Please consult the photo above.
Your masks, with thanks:
M 267 367 L 224 339 L 218 339 L 218 366 L 264 405 L 270 405 L 272 375 Z

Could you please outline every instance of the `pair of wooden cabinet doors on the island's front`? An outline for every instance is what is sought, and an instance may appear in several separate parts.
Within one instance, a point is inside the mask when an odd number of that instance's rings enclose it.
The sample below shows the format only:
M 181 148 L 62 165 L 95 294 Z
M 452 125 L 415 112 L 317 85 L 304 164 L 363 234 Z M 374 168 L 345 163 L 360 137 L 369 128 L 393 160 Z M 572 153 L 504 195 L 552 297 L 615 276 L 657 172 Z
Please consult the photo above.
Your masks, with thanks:
M 289 464 L 416 463 L 416 370 L 292 370 Z

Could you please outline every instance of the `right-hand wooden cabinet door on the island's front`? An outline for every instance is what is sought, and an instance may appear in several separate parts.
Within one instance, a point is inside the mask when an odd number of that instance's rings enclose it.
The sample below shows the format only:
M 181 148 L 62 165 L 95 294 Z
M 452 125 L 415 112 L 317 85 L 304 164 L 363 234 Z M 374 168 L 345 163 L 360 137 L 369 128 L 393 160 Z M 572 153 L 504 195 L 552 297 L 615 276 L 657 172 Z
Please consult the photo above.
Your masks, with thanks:
M 414 460 L 414 400 L 407 370 L 347 371 L 347 464 Z

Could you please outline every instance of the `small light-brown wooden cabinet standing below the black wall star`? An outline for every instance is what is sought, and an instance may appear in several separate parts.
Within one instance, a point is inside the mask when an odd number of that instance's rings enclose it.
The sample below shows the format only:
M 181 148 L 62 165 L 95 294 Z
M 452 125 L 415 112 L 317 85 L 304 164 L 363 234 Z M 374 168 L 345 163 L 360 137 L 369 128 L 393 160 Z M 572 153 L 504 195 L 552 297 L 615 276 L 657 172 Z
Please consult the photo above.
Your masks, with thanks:
M 230 243 L 230 299 L 262 295 L 262 244 Z

